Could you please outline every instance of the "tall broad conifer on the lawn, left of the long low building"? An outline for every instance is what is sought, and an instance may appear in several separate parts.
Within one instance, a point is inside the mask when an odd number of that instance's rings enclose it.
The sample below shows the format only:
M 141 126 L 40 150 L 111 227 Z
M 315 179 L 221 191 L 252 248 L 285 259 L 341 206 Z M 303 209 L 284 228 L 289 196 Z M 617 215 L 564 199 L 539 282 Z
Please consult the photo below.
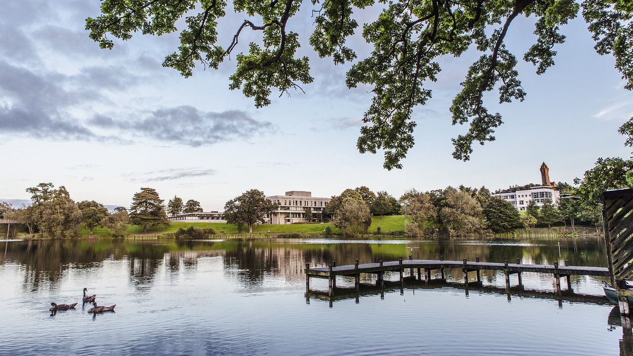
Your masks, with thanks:
M 165 201 L 158 196 L 156 189 L 141 188 L 134 194 L 130 207 L 130 223 L 143 227 L 143 233 L 147 232 L 147 226 L 169 226 L 165 213 Z

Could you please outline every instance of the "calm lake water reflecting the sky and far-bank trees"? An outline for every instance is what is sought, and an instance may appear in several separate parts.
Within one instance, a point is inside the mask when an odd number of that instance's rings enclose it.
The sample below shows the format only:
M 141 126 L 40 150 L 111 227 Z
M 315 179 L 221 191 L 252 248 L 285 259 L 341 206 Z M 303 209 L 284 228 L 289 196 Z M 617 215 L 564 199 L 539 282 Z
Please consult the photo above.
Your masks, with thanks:
M 560 248 L 556 240 L 0 242 L 0 355 L 618 355 L 629 347 L 593 277 L 572 277 L 572 288 L 594 298 L 557 300 L 552 277 L 541 274 L 523 274 L 527 291 L 508 296 L 494 272 L 466 293 L 461 270 L 447 270 L 454 284 L 403 289 L 387 275 L 396 286 L 382 295 L 363 275 L 358 298 L 344 289 L 353 279 L 341 278 L 334 300 L 318 293 L 327 280 L 311 279 L 306 295 L 306 262 L 396 260 L 411 247 L 414 258 L 606 266 L 600 239 Z M 88 314 L 84 287 L 116 312 Z M 51 315 L 50 302 L 79 303 Z

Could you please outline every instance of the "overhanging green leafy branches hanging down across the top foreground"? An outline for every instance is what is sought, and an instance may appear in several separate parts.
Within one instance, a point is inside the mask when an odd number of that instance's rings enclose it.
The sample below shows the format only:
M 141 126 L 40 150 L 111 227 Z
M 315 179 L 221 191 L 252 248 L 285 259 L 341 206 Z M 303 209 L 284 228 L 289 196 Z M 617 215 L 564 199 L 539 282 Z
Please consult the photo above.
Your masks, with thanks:
M 237 54 L 237 69 L 230 76 L 230 89 L 240 89 L 253 98 L 256 107 L 270 104 L 272 89 L 280 96 L 313 81 L 308 57 L 299 56 L 299 34 L 289 23 L 295 21 L 307 0 L 232 1 L 235 13 L 249 19 L 235 23 L 229 34 L 218 32 L 218 22 L 227 11 L 223 0 L 104 0 L 101 14 L 86 19 L 90 37 L 101 48 L 113 48 L 109 35 L 132 38 L 134 32 L 162 35 L 179 30 L 180 46 L 163 61 L 163 67 L 192 75 L 196 63 L 217 69 L 225 58 L 238 51 L 242 30 L 261 31 L 261 41 L 251 42 Z M 321 58 L 335 64 L 354 63 L 346 85 L 372 86 L 373 99 L 365 112 L 357 147 L 361 153 L 384 150 L 384 167 L 401 168 L 401 160 L 413 147 L 413 110 L 431 98 L 427 84 L 437 80 L 441 56 L 460 56 L 467 49 L 481 56 L 461 82 L 461 92 L 449 109 L 452 123 L 469 124 L 468 132 L 452 139 L 453 156 L 468 160 L 473 143 L 494 141 L 494 130 L 502 124 L 501 114 L 484 106 L 486 92 L 498 89 L 499 103 L 522 101 L 525 91 L 517 71 L 517 57 L 506 48 L 505 37 L 518 16 L 532 16 L 536 42 L 523 60 L 542 74 L 554 65 L 555 46 L 565 41 L 559 30 L 582 16 L 596 41 L 599 54 L 613 54 L 615 68 L 622 73 L 625 88 L 633 89 L 633 6 L 630 0 L 330 0 L 311 1 L 313 10 L 297 16 L 314 23 L 310 45 Z M 365 59 L 357 60 L 347 40 L 358 29 L 354 12 L 371 6 L 380 8 L 373 22 L 363 24 L 362 35 L 373 47 Z M 308 18 L 310 16 L 310 18 Z M 184 22 L 179 22 L 185 17 Z M 306 19 L 308 18 L 308 19 Z M 629 130 L 624 127 L 622 130 Z

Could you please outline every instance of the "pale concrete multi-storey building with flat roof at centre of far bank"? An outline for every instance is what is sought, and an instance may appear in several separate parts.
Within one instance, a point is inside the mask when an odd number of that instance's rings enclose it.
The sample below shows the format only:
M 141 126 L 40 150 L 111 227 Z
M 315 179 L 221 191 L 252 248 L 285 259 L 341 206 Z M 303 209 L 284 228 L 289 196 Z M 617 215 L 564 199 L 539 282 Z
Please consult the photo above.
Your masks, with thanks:
M 266 217 L 267 224 L 292 224 L 293 222 L 326 221 L 323 213 L 330 198 L 316 198 L 309 191 L 287 191 L 285 195 L 266 196 L 277 207 Z M 306 208 L 311 212 L 311 219 L 306 219 Z

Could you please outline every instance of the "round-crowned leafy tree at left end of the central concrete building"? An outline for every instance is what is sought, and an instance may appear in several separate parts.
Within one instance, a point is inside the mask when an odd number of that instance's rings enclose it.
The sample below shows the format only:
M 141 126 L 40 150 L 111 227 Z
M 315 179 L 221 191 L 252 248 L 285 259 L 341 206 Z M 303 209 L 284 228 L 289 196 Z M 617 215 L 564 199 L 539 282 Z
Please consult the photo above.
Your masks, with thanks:
M 266 199 L 262 191 L 251 189 L 240 196 L 227 201 L 224 205 L 224 219 L 227 224 L 248 226 L 248 233 L 253 233 L 253 225 L 264 223 L 266 215 L 270 215 L 275 203 Z

